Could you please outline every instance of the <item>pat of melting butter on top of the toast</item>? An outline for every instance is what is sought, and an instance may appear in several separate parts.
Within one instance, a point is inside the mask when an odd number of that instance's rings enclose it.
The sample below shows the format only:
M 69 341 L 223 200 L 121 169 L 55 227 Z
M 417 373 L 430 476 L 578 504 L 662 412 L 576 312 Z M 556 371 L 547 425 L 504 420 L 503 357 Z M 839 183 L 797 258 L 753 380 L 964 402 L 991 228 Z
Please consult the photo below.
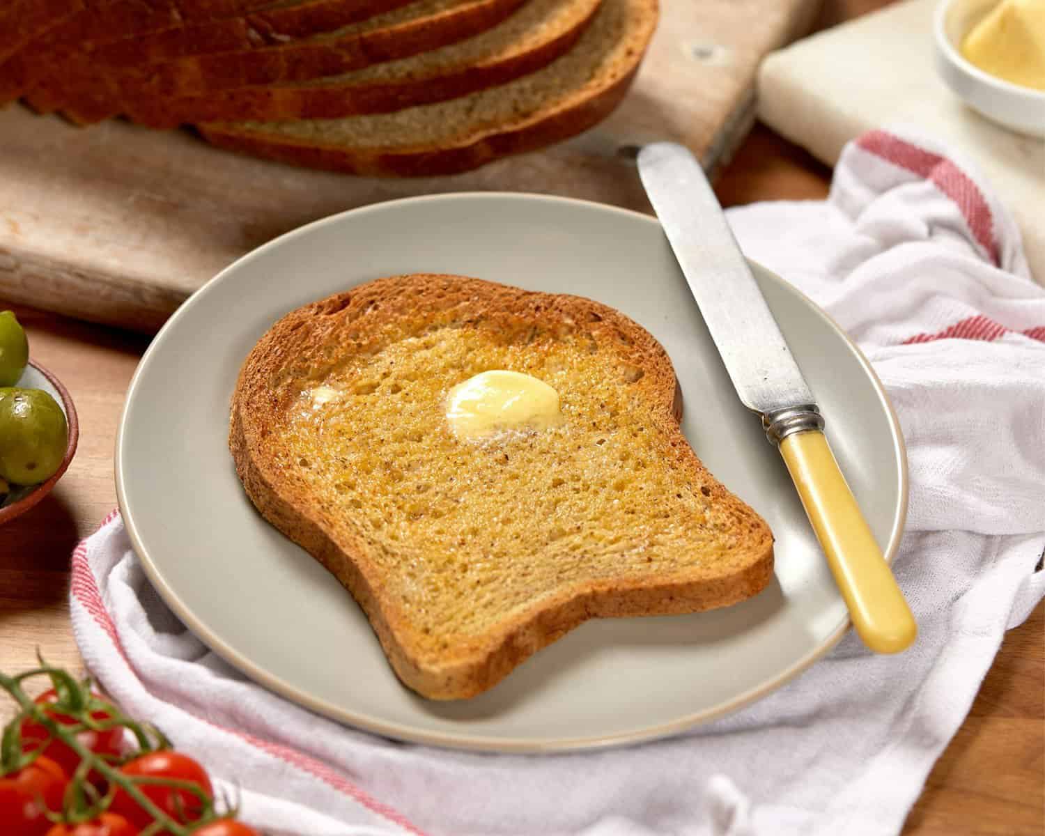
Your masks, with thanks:
M 559 393 L 529 374 L 493 370 L 458 384 L 446 400 L 446 420 L 461 438 L 506 429 L 547 429 L 562 422 Z

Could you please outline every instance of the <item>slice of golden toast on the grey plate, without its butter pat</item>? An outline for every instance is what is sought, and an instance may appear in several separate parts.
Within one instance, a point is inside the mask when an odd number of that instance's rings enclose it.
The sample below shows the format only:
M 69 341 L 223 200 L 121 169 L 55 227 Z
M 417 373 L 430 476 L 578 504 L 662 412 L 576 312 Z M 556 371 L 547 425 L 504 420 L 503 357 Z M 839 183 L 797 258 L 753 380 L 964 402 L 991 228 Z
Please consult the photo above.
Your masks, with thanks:
M 554 387 L 563 420 L 461 439 L 447 392 L 490 369 Z M 392 668 L 474 696 L 586 619 L 695 612 L 759 593 L 763 519 L 679 428 L 660 345 L 574 296 L 378 279 L 261 338 L 229 446 L 261 515 L 363 607 Z

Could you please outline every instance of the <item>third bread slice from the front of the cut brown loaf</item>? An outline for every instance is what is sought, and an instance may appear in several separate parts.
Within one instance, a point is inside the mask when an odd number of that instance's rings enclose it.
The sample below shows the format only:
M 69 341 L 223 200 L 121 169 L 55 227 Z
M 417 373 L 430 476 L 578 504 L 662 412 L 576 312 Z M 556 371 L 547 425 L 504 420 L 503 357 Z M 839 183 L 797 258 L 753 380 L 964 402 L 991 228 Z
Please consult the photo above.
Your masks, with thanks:
M 121 100 L 192 95 L 246 85 L 333 75 L 414 55 L 470 38 L 495 26 L 525 0 L 417 0 L 386 15 L 292 39 L 279 46 L 240 44 L 233 50 L 183 56 L 175 61 L 92 71 L 92 62 L 67 65 L 63 79 L 28 96 L 37 110 L 62 109 L 74 121 L 89 123 L 118 114 Z

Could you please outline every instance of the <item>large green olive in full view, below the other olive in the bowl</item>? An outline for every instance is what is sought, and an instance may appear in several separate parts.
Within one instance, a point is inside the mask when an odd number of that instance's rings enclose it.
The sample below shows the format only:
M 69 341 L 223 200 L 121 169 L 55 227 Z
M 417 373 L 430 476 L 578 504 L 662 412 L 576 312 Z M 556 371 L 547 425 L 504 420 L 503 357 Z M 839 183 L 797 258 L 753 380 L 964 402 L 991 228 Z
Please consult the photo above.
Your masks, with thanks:
M 69 441 L 65 413 L 41 389 L 0 389 L 0 479 L 16 485 L 46 482 Z

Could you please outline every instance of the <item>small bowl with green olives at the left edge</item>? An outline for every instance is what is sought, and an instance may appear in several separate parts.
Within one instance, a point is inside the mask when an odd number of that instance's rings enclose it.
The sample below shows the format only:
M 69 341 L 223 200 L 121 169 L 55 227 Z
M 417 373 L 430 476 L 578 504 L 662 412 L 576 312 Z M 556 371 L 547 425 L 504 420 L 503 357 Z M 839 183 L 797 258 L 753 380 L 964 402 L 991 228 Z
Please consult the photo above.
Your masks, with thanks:
M 78 439 L 69 391 L 29 359 L 18 319 L 0 311 L 0 525 L 50 493 Z

